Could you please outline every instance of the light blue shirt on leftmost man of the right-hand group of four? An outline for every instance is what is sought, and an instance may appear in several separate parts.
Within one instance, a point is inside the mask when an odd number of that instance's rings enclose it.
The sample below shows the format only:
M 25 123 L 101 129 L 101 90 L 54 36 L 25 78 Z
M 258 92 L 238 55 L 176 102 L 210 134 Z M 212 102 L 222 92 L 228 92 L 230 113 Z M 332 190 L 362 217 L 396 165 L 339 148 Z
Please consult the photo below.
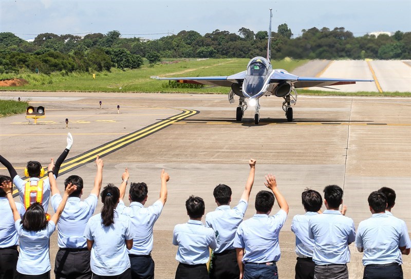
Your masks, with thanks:
M 317 212 L 307 211 L 304 215 L 295 215 L 291 222 L 291 231 L 295 234 L 295 253 L 298 257 L 312 257 L 314 239 L 308 236 L 308 222 Z

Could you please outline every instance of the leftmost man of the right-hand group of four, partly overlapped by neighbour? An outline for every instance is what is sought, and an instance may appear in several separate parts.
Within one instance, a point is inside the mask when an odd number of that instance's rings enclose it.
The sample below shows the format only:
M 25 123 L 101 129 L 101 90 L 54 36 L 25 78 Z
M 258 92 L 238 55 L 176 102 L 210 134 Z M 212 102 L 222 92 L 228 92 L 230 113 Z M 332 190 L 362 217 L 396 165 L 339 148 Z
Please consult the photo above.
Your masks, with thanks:
M 313 279 L 315 264 L 312 261 L 314 240 L 308 236 L 308 222 L 323 205 L 321 194 L 314 190 L 306 189 L 301 194 L 305 214 L 295 215 L 291 223 L 291 231 L 295 234 L 295 279 Z

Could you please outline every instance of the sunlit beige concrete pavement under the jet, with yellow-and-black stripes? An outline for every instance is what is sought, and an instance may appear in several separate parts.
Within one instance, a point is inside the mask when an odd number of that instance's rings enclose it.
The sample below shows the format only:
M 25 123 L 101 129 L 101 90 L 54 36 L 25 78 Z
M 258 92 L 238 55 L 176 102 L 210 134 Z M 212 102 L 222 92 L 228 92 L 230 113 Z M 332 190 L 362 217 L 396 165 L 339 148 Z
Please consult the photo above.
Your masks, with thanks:
M 94 152 L 99 146 L 110 142 L 117 146 L 129 135 L 136 139 L 141 131 L 153 132 L 101 155 L 103 185 L 119 184 L 127 167 L 130 181 L 147 183 L 147 204 L 158 198 L 161 169 L 171 176 L 169 197 L 155 226 L 156 278 L 174 277 L 176 248 L 171 237 L 174 226 L 188 220 L 185 199 L 191 194 L 201 196 L 206 212 L 212 211 L 216 207 L 212 190 L 218 183 L 225 183 L 233 189 L 233 205 L 244 188 L 249 158 L 255 158 L 257 165 L 246 218 L 254 214 L 254 197 L 265 189 L 267 173 L 277 177 L 279 189 L 290 205 L 280 236 L 282 259 L 278 268 L 283 278 L 293 274 L 294 237 L 290 225 L 292 216 L 304 213 L 300 193 L 305 187 L 320 192 L 328 184 L 344 188 L 347 216 L 356 226 L 370 216 L 368 194 L 382 186 L 392 187 L 397 192 L 393 213 L 406 221 L 408 229 L 411 227 L 407 210 L 411 198 L 411 98 L 300 96 L 291 123 L 285 119 L 281 99 L 264 98 L 260 102 L 260 125 L 254 125 L 251 110 L 246 111 L 244 121 L 234 120 L 236 104 L 230 105 L 226 95 L 1 94 L 2 99 L 17 97 L 46 107 L 46 118 L 38 125 L 27 124 L 24 115 L 0 118 L 0 154 L 20 175 L 28 160 L 39 160 L 47 166 L 49 158 L 57 158 L 66 145 L 67 132 L 73 134 L 74 144 L 65 168 L 70 160 L 88 154 L 84 165 L 68 168 L 59 176 L 61 190 L 64 179 L 77 174 L 85 181 L 83 191 L 87 196 L 96 171 L 92 158 L 99 153 Z M 181 115 L 184 111 L 186 115 Z M 69 119 L 68 128 L 65 118 Z M 167 125 L 154 131 L 150 127 L 156 123 Z M 140 134 L 134 134 L 138 131 Z M 6 172 L 0 168 L 0 173 Z M 56 242 L 57 234 L 53 234 L 51 243 Z M 51 249 L 52 257 L 56 249 L 57 245 Z M 353 245 L 350 250 L 350 278 L 361 278 L 361 254 Z M 403 269 L 405 278 L 411 276 L 409 256 L 404 256 Z

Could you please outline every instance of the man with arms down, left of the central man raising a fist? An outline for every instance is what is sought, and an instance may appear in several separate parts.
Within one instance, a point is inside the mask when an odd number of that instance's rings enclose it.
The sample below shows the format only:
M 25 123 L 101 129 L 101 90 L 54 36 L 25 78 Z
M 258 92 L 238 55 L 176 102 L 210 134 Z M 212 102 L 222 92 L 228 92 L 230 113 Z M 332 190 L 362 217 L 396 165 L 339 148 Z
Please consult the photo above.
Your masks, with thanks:
M 176 260 L 179 262 L 176 279 L 208 279 L 207 263 L 209 248 L 216 249 L 217 241 L 213 229 L 201 222 L 206 207 L 200 197 L 190 196 L 185 201 L 190 220 L 174 227 L 173 245 L 178 246 Z

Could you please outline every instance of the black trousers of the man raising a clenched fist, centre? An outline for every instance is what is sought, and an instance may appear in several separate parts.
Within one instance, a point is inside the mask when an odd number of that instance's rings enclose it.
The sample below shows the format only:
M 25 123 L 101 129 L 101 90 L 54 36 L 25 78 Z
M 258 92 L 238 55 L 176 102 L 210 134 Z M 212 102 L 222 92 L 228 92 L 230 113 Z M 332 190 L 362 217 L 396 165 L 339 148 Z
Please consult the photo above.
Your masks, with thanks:
M 213 254 L 210 267 L 211 279 L 238 279 L 239 277 L 240 269 L 235 249 Z

